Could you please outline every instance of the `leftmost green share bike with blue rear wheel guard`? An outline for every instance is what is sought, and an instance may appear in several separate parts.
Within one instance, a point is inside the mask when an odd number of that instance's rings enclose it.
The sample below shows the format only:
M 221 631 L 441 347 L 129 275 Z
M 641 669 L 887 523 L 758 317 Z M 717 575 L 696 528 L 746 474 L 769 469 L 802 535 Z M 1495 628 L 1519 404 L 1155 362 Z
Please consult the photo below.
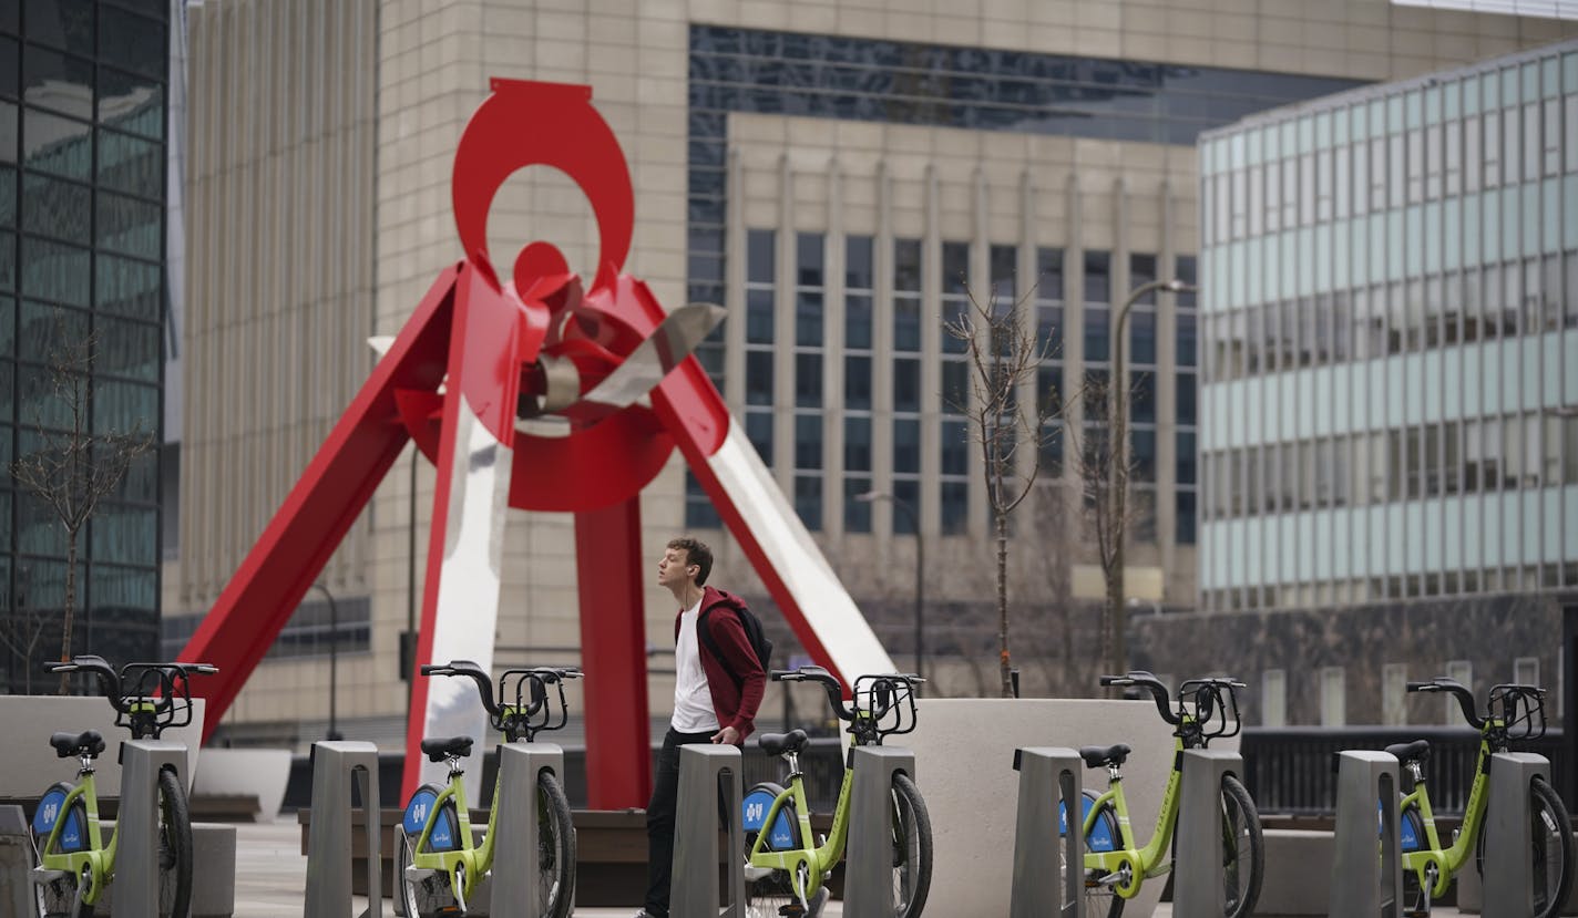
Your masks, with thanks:
M 103 656 L 80 655 L 69 662 L 47 662 L 49 672 L 84 672 L 115 708 L 115 726 L 133 740 L 158 740 L 169 727 L 193 719 L 188 678 L 215 674 L 205 662 L 128 662 L 117 672 Z M 98 730 L 54 733 L 49 744 L 60 759 L 76 757 L 76 784 L 50 786 L 33 812 L 33 869 L 38 915 L 43 918 L 92 918 L 115 879 L 115 852 L 122 833 L 104 844 L 99 823 L 98 782 L 93 762 L 104 752 Z M 158 778 L 159 918 L 186 918 L 193 891 L 193 827 L 186 786 L 166 768 Z

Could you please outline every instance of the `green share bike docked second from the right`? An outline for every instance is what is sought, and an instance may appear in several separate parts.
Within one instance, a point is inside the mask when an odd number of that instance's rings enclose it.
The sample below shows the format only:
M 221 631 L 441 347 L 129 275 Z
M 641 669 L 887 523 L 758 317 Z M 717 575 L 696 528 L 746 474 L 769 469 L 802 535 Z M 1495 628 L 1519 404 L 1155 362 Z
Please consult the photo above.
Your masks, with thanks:
M 1116 746 L 1086 746 L 1079 757 L 1089 768 L 1106 768 L 1108 789 L 1084 792 L 1084 913 L 1087 918 L 1120 918 L 1141 885 L 1172 872 L 1177 860 L 1179 790 L 1184 779 L 1184 751 L 1204 749 L 1212 740 L 1236 737 L 1242 729 L 1237 689 L 1232 678 L 1191 678 L 1179 686 L 1177 708 L 1168 686 L 1142 670 L 1128 675 L 1103 675 L 1103 686 L 1136 688 L 1150 692 L 1161 719 L 1172 724 L 1172 771 L 1161 795 L 1161 812 L 1150 841 L 1141 847 L 1128 820 L 1124 798 L 1124 762 L 1133 751 Z M 1221 850 L 1225 883 L 1225 918 L 1247 918 L 1255 913 L 1266 874 L 1266 842 L 1261 817 L 1250 792 L 1232 774 L 1221 779 Z M 1059 804 L 1059 830 L 1067 831 L 1068 815 Z M 1174 847 L 1172 856 L 1168 849 Z M 1060 850 L 1060 845 L 1059 845 Z M 1067 869 L 1067 864 L 1065 864 Z

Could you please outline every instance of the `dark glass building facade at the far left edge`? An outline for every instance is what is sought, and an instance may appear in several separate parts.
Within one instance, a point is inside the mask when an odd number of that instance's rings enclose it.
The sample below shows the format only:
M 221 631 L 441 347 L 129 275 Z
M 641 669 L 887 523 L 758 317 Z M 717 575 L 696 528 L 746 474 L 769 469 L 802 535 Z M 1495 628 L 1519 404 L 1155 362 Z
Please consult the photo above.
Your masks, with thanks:
M 0 5 L 0 461 L 69 429 L 58 341 L 98 333 L 93 434 L 161 424 L 169 3 Z M 158 456 L 137 461 L 77 538 L 74 650 L 158 651 Z M 0 691 L 41 688 L 60 651 L 60 517 L 0 476 Z

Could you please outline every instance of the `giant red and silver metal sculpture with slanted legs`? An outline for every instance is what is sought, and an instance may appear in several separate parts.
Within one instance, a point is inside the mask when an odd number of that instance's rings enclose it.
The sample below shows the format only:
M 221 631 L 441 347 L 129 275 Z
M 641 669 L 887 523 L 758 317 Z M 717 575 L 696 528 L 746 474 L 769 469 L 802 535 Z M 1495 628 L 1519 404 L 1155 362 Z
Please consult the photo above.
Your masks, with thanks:
M 527 166 L 563 170 L 590 200 L 589 289 L 544 241 L 519 252 L 511 281 L 494 273 L 488 210 Z M 507 508 L 574 513 L 595 809 L 644 806 L 650 793 L 639 492 L 675 446 L 811 656 L 846 683 L 892 669 L 688 356 L 721 311 L 664 312 L 620 273 L 634 197 L 590 87 L 492 80 L 461 137 L 453 194 L 466 259 L 439 274 L 183 651 L 219 667 L 200 686 L 205 738 L 407 440 L 439 468 L 415 666 L 491 667 Z M 522 429 L 533 418 L 559 420 L 562 435 Z M 406 792 L 423 735 L 483 735 L 475 692 L 448 681 L 413 680 Z

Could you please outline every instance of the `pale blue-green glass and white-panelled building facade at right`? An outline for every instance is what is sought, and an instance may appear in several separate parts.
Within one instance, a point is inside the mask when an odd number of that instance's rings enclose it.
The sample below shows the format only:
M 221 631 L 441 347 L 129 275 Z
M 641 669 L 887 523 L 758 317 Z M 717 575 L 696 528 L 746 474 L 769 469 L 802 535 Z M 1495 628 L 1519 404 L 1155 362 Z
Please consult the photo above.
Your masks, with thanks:
M 1578 43 L 1199 148 L 1202 606 L 1578 585 Z

